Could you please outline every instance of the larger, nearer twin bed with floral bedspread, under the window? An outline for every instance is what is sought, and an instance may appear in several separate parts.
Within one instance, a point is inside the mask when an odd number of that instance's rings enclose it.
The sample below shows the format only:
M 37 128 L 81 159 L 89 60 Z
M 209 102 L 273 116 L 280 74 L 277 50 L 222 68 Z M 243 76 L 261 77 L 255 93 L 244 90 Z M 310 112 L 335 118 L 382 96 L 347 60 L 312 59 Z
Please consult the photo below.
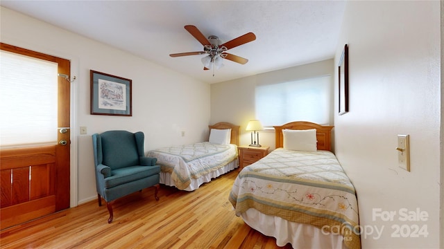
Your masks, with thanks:
M 332 154 L 332 127 L 275 127 L 276 148 L 237 176 L 229 200 L 251 228 L 293 248 L 361 248 L 355 188 Z

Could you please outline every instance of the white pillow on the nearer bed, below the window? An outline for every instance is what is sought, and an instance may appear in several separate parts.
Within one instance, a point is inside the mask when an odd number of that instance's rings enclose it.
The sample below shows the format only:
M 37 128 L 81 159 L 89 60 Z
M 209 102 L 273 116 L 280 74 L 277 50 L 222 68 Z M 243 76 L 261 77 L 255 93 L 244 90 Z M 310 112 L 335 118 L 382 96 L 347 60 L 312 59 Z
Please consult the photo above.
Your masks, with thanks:
M 316 151 L 316 129 L 291 130 L 283 129 L 284 149 L 297 151 Z

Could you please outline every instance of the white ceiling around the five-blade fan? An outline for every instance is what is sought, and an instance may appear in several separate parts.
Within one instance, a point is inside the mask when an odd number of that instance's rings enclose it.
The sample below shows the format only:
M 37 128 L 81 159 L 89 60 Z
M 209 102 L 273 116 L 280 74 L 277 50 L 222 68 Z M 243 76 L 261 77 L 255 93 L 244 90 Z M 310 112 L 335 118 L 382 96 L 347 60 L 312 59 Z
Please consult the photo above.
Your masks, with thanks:
M 5 1 L 0 5 L 126 50 L 208 83 L 334 57 L 345 1 Z M 228 50 L 247 64 L 224 60 L 203 71 L 203 50 L 185 25 L 221 42 L 253 32 L 256 40 Z

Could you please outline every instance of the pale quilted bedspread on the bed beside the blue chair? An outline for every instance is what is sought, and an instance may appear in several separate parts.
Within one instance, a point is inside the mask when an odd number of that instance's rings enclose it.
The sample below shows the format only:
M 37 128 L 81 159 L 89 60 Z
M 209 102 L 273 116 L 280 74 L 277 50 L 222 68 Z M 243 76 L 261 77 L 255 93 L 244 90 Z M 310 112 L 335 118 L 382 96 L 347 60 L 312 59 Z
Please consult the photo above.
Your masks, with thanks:
M 238 154 L 236 145 L 198 142 L 155 149 L 148 151 L 146 156 L 157 158 L 162 172 L 171 174 L 176 187 L 185 190 L 191 183 L 191 178 L 199 178 L 227 165 Z

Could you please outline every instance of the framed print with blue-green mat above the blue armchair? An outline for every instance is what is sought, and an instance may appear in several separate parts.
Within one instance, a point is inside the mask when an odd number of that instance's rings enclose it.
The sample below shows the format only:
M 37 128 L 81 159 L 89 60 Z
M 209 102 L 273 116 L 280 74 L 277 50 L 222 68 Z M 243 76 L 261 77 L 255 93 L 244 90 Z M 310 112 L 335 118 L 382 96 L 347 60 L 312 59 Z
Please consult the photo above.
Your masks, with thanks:
M 91 70 L 91 114 L 133 116 L 132 80 Z

